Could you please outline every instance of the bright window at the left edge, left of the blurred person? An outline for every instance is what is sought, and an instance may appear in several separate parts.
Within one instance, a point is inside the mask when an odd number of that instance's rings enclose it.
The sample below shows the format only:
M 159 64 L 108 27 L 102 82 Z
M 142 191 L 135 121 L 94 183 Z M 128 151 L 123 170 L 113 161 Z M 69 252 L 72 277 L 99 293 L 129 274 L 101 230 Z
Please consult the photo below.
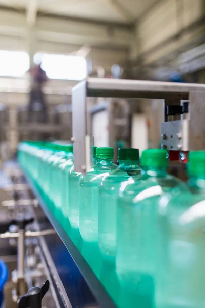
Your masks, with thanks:
M 22 77 L 28 69 L 28 53 L 0 50 L 0 76 Z

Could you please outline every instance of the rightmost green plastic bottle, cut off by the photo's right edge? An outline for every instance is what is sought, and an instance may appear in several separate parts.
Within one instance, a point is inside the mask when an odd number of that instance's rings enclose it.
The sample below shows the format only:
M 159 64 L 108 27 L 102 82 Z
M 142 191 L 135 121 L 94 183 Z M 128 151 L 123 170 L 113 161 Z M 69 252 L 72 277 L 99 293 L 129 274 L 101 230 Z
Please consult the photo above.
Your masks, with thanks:
M 202 308 L 205 303 L 205 151 L 189 153 L 188 185 L 159 200 L 157 308 Z

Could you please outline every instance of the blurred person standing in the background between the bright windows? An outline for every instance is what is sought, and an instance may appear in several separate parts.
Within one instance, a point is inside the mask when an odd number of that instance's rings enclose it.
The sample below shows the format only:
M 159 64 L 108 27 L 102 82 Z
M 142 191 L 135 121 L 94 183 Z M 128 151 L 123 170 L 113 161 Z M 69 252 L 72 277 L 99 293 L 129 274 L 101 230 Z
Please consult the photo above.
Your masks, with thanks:
M 31 91 L 29 101 L 29 121 L 32 121 L 33 111 L 40 111 L 39 122 L 47 122 L 47 108 L 42 88 L 47 81 L 46 72 L 41 68 L 41 63 L 29 69 L 31 76 Z

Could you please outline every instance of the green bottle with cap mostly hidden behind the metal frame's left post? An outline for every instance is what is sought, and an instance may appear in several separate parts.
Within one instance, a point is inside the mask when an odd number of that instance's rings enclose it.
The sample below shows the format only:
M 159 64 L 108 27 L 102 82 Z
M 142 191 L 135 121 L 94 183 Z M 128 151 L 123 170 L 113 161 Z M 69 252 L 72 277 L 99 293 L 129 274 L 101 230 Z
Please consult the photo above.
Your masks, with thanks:
M 96 146 L 92 147 L 93 162 L 96 159 Z M 81 172 L 75 172 L 75 166 L 73 165 L 69 171 L 69 194 L 68 194 L 68 206 L 67 217 L 71 225 L 70 237 L 74 244 L 79 247 L 81 242 L 81 236 L 79 233 L 79 180 Z

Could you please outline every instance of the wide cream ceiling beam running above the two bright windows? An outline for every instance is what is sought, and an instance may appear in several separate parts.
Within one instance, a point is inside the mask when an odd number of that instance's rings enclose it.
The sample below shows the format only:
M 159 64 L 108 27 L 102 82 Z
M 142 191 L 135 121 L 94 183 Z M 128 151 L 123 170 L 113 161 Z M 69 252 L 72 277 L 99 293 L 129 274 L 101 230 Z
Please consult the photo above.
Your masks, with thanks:
M 128 26 L 109 26 L 106 23 L 95 24 L 74 18 L 66 20 L 41 15 L 38 15 L 34 26 L 28 26 L 25 23 L 25 14 L 0 10 L 0 35 L 27 38 L 29 29 L 33 29 L 32 36 L 35 36 L 37 41 L 88 47 L 112 46 L 116 49 L 128 49 L 134 39 L 134 33 Z

